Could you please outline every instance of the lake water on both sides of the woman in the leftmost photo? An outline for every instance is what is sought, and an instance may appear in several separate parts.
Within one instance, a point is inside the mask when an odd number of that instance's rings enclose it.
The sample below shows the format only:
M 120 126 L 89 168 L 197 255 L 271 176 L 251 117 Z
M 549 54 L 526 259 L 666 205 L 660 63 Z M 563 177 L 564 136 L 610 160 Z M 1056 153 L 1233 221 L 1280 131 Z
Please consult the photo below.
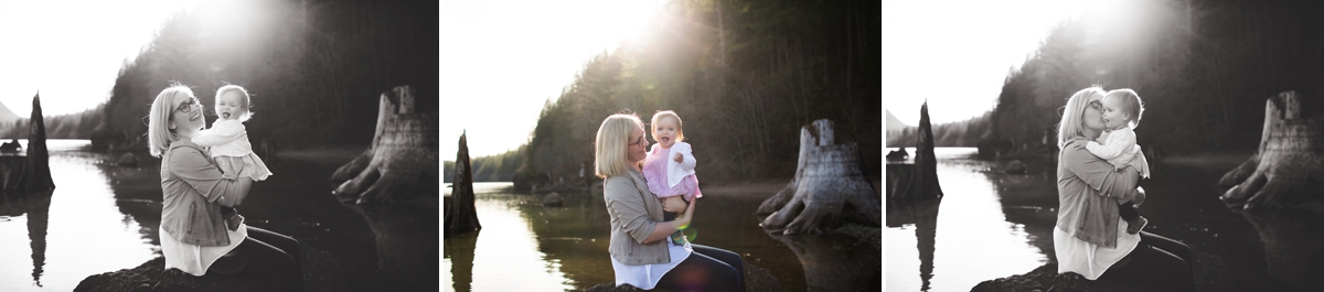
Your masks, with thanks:
M 0 193 L 0 291 L 71 291 L 90 275 L 160 255 L 159 159 L 123 168 L 106 163 L 118 156 L 87 151 L 89 140 L 48 140 L 48 148 L 54 192 Z M 437 291 L 437 200 L 342 205 L 327 178 L 347 161 L 277 156 L 240 214 L 308 246 L 312 291 Z

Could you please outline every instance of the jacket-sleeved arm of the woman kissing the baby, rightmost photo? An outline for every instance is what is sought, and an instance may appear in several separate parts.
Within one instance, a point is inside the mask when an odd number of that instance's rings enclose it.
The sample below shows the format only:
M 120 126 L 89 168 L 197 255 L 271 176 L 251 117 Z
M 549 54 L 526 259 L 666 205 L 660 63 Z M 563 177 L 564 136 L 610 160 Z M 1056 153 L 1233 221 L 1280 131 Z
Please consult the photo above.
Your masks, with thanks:
M 1084 140 L 1076 140 L 1062 149 L 1062 165 L 1091 189 L 1098 190 L 1100 196 L 1116 197 L 1120 202 L 1131 200 L 1135 196 L 1140 170 L 1125 168 L 1116 172 L 1112 164 L 1084 149 L 1080 145 L 1083 143 Z

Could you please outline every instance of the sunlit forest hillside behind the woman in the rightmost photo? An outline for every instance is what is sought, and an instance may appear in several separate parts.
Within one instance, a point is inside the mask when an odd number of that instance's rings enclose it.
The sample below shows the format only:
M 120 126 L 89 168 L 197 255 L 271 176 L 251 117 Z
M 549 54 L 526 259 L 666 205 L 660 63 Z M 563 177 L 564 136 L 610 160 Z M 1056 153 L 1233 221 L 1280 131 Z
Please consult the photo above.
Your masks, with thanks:
M 1010 70 L 990 139 L 1051 145 L 1066 99 L 1090 85 L 1136 90 L 1145 102 L 1137 140 L 1165 149 L 1254 149 L 1264 100 L 1280 91 L 1324 112 L 1324 3 L 1128 3 L 1125 17 L 1100 25 L 1113 29 L 1067 20 Z

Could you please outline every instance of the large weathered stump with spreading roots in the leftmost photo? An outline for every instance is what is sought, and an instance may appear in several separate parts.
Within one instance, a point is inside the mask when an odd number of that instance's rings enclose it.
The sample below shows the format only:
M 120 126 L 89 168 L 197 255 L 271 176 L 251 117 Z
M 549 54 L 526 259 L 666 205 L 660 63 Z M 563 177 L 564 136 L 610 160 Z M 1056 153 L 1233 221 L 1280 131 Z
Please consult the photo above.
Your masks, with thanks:
M 412 87 L 381 94 L 372 145 L 331 176 L 342 201 L 392 203 L 441 193 L 437 112 L 414 111 Z

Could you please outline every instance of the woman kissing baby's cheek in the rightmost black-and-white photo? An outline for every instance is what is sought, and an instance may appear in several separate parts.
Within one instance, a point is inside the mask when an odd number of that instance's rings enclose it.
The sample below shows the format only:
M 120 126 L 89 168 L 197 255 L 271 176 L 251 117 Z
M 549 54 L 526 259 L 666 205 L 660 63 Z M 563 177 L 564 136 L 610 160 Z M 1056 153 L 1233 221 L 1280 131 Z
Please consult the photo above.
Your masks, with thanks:
M 1145 231 L 1124 231 L 1117 202 L 1143 198 L 1137 170 L 1115 172 L 1112 164 L 1084 148 L 1103 133 L 1103 96 L 1099 87 L 1076 91 L 1058 124 L 1059 206 L 1053 229 L 1058 274 L 1075 272 L 1088 280 L 1145 279 L 1162 283 L 1165 291 L 1193 289 L 1190 247 Z

